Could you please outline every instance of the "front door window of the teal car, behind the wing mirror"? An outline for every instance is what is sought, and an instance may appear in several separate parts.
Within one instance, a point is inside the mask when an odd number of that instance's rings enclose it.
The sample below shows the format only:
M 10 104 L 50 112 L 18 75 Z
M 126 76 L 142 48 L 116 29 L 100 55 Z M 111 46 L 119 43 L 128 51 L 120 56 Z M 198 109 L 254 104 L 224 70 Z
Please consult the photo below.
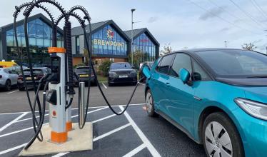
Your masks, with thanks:
M 179 71 L 181 69 L 186 69 L 191 74 L 192 72 L 192 66 L 191 66 L 191 56 L 188 56 L 187 54 L 176 54 L 176 57 L 173 61 L 173 65 L 171 66 L 170 75 L 179 77 Z

